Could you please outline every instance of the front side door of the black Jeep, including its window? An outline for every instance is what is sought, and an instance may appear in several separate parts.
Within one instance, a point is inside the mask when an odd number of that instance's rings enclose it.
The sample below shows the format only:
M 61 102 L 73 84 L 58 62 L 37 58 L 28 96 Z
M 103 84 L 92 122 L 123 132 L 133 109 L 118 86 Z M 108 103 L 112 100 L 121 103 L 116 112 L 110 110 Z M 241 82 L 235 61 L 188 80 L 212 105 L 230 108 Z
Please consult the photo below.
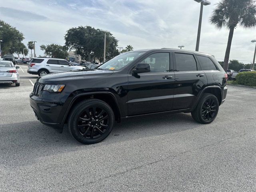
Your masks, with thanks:
M 172 55 L 168 51 L 154 52 L 141 62 L 150 64 L 151 71 L 128 74 L 128 116 L 172 110 L 175 79 Z

